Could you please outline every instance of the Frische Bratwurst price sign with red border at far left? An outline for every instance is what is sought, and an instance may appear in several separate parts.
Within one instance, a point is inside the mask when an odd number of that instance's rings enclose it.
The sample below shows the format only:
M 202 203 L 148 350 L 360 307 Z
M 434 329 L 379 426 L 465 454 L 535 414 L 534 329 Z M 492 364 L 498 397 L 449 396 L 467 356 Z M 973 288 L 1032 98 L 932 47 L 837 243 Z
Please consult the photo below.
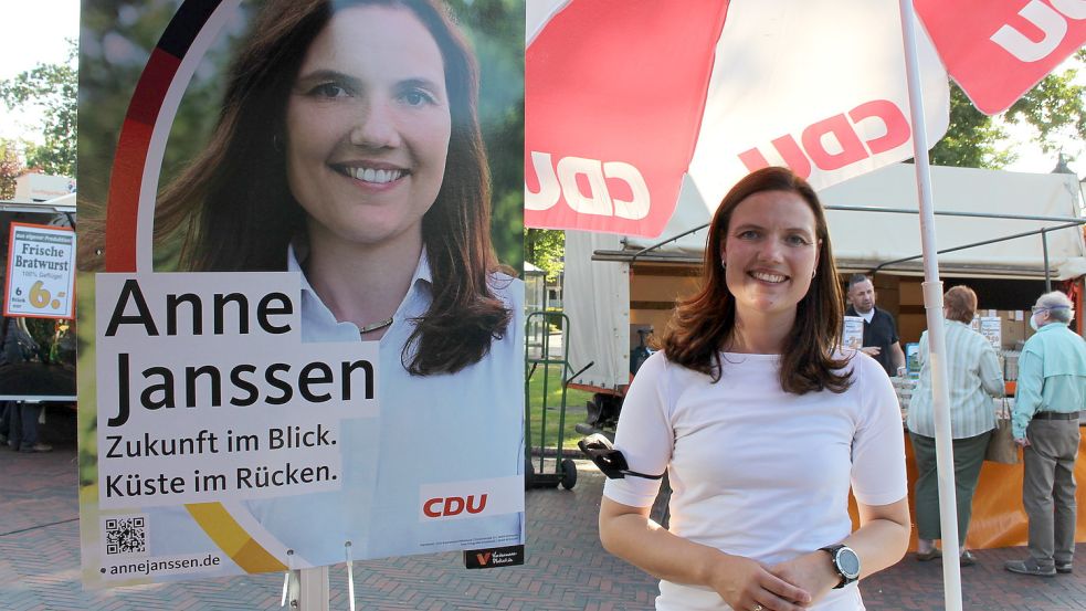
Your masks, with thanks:
M 75 232 L 11 223 L 3 315 L 75 317 Z

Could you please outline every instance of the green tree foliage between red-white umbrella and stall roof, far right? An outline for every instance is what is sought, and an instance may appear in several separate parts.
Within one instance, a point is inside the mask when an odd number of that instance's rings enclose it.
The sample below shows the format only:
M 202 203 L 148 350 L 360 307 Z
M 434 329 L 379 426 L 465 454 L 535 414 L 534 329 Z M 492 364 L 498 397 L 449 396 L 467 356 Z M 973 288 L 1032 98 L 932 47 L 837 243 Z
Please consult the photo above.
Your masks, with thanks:
M 1086 63 L 1086 51 L 1075 55 Z M 1046 152 L 1058 148 L 1054 136 L 1086 139 L 1086 86 L 1076 85 L 1076 69 L 1045 76 L 1000 117 L 1010 124 L 1027 124 L 1035 130 L 1034 141 Z M 950 126 L 931 149 L 938 166 L 999 169 L 1013 162 L 1008 134 L 997 117 L 978 110 L 957 84 L 950 84 Z

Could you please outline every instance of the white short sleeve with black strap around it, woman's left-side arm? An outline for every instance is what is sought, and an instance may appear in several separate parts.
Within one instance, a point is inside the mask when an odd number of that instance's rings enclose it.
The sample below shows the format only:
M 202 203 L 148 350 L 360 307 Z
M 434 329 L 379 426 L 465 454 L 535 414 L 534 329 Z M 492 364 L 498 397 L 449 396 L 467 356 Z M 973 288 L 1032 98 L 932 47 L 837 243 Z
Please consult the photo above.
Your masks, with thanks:
M 614 447 L 622 452 L 631 471 L 658 475 L 667 470 L 675 433 L 667 398 L 668 364 L 664 352 L 651 357 L 637 370 L 622 402 Z M 628 475 L 608 480 L 603 495 L 632 507 L 649 507 L 660 491 L 660 480 Z

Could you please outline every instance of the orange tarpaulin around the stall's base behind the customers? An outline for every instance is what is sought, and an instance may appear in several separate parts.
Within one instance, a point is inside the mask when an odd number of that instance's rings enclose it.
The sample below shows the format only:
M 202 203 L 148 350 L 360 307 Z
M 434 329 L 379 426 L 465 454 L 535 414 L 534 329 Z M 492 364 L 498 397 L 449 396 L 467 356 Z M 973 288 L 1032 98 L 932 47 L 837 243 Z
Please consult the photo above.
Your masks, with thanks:
M 1082 454 L 1086 438 L 1078 442 Z M 1021 451 L 1019 457 L 1021 459 Z M 916 486 L 916 461 L 913 459 L 913 444 L 905 433 L 905 457 L 909 475 L 909 515 L 913 516 L 913 535 L 909 549 L 916 550 L 916 507 L 913 492 Z M 1086 484 L 1086 461 L 1075 462 L 1075 481 Z M 1077 495 L 1076 495 L 1077 496 Z M 848 513 L 855 527 L 860 526 L 856 501 L 850 496 Z M 1078 512 L 1075 540 L 1086 541 L 1086 510 Z M 980 482 L 973 494 L 973 516 L 969 522 L 966 547 L 987 549 L 1026 545 L 1029 519 L 1022 508 L 1022 463 L 1003 465 L 985 462 L 980 471 Z

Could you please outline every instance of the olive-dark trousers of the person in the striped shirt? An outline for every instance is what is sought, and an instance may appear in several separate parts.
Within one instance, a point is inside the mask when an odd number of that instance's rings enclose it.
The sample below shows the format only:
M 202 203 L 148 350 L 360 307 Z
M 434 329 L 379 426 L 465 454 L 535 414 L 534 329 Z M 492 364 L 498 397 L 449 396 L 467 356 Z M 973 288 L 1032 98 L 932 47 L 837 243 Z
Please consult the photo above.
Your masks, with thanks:
M 958 506 L 958 545 L 966 545 L 969 518 L 973 512 L 973 492 L 984 464 L 984 451 L 992 432 L 952 440 L 955 453 L 955 502 Z M 916 459 L 916 529 L 921 539 L 941 539 L 939 525 L 939 477 L 936 473 L 935 438 L 909 432 L 913 456 Z

